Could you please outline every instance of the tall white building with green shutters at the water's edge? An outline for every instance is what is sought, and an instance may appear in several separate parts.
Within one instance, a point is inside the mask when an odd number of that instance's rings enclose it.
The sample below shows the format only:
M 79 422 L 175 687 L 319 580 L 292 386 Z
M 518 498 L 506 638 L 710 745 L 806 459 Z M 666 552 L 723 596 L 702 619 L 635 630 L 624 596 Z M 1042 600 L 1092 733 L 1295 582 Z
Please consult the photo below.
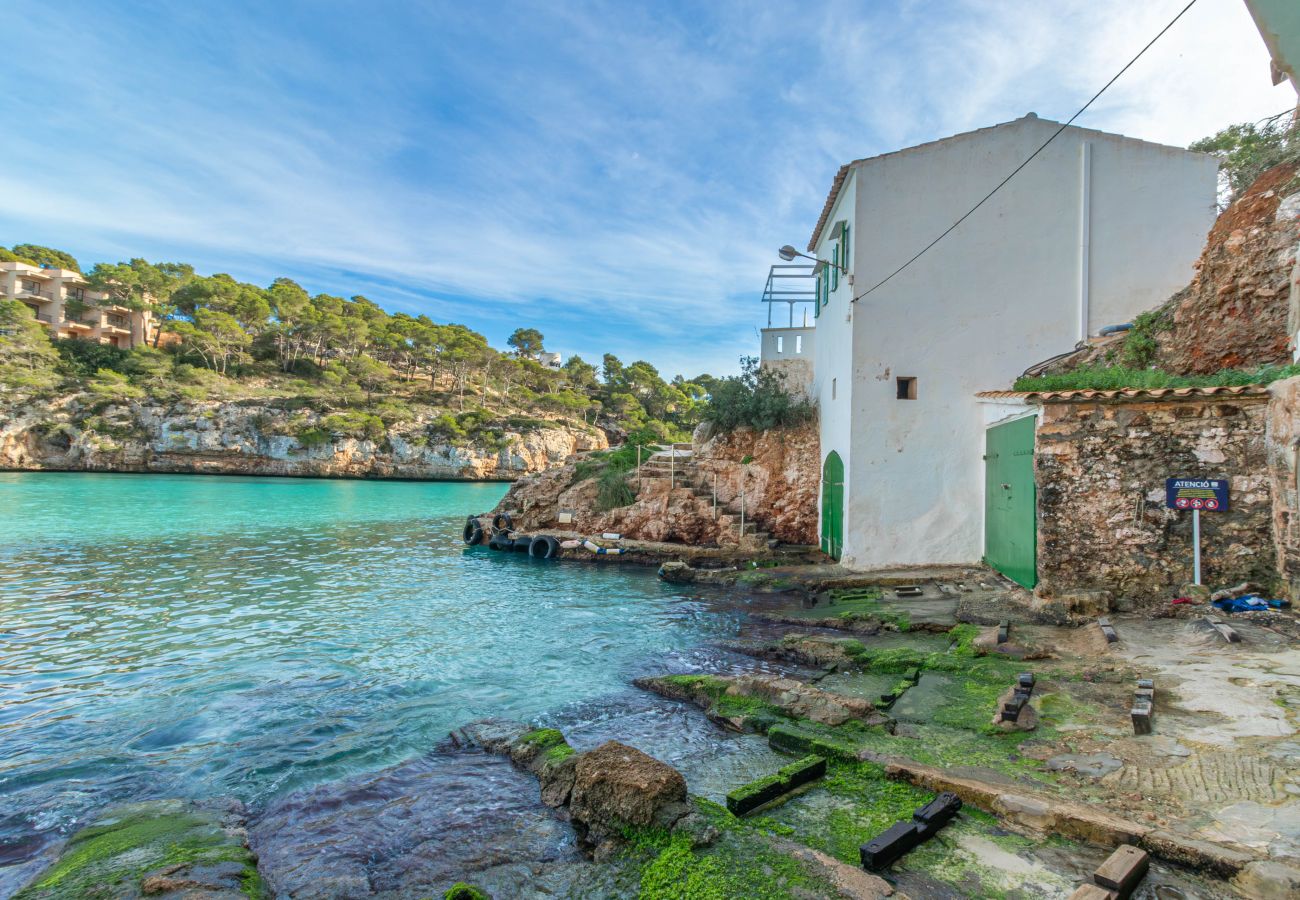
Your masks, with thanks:
M 980 561 L 985 428 L 1032 411 L 992 411 L 975 394 L 1130 321 L 1192 276 L 1214 221 L 1217 161 L 1069 127 L 884 281 L 1057 127 L 1031 113 L 835 176 L 809 243 L 832 263 L 818 276 L 809 343 L 823 549 L 846 566 Z M 1032 498 L 1028 509 L 1032 531 Z

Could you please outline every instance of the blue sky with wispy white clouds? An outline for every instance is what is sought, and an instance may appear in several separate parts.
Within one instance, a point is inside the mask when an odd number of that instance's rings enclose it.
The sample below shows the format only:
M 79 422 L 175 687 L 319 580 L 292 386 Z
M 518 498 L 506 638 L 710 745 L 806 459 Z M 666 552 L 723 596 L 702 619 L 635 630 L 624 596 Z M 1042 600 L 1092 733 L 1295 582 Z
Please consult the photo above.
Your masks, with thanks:
M 0 243 L 729 372 L 841 163 L 1067 118 L 1183 3 L 9 0 Z M 1079 124 L 1294 103 L 1242 0 L 1199 0 Z

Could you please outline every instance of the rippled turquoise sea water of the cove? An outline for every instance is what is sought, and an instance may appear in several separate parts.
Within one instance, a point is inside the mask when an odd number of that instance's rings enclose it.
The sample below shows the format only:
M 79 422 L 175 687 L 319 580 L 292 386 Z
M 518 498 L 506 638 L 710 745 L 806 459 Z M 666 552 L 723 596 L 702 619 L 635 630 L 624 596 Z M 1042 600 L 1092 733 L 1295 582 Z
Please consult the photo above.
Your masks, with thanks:
M 465 550 L 504 489 L 0 473 L 0 866 L 114 800 L 256 804 L 734 631 L 647 570 Z

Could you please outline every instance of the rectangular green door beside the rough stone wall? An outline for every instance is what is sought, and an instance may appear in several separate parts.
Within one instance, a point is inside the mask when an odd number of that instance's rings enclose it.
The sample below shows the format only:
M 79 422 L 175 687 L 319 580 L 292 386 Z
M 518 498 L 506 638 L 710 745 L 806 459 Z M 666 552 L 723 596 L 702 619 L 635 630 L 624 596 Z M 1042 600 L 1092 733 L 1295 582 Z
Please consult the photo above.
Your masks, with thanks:
M 1039 583 L 1035 423 L 994 425 L 984 443 L 984 562 L 1026 588 Z

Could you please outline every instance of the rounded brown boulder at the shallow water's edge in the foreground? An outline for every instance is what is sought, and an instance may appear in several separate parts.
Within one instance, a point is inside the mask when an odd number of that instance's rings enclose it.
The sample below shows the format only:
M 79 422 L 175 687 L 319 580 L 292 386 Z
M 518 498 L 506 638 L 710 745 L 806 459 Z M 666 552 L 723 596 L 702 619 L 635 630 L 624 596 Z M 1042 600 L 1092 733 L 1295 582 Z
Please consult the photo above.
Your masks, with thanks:
M 681 773 L 633 747 L 611 740 L 577 757 L 569 815 L 589 845 L 629 826 L 671 827 L 689 812 Z

